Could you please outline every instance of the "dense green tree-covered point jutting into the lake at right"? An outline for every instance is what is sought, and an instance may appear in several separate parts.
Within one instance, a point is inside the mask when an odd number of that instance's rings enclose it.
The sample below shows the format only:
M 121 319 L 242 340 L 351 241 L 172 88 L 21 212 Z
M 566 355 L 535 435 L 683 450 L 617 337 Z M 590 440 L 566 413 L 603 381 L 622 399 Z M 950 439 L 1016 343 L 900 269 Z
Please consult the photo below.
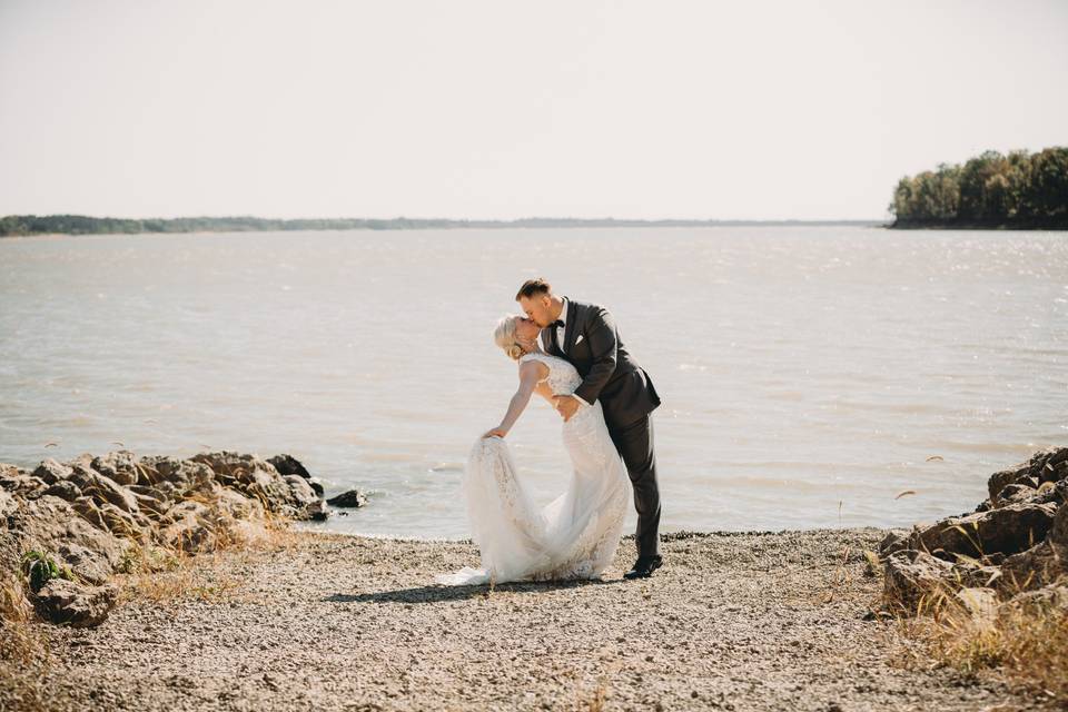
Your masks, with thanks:
M 893 191 L 892 227 L 1068 229 L 1068 148 L 986 151 L 904 177 Z

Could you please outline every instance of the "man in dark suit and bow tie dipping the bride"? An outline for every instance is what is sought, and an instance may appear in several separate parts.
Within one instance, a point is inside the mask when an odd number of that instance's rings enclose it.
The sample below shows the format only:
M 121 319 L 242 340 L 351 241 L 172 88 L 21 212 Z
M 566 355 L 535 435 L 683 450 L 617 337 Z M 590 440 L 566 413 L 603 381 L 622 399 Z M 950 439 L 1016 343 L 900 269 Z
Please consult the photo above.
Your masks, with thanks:
M 541 278 L 523 283 L 515 300 L 542 327 L 542 348 L 571 362 L 583 378 L 574 394 L 554 398 L 564 421 L 601 399 L 609 434 L 634 485 L 637 510 L 637 561 L 623 577 L 647 578 L 662 563 L 660 492 L 650 417 L 660 397 L 653 382 L 626 353 L 615 320 L 604 307 L 557 297 Z

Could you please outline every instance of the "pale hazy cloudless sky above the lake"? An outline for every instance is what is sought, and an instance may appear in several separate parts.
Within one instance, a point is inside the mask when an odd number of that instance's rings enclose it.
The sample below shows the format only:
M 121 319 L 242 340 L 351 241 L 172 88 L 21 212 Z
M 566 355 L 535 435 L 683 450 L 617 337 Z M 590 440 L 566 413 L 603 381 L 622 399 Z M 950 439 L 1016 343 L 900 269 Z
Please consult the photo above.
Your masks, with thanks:
M 1054 145 L 1065 0 L 0 0 L 0 215 L 882 218 Z

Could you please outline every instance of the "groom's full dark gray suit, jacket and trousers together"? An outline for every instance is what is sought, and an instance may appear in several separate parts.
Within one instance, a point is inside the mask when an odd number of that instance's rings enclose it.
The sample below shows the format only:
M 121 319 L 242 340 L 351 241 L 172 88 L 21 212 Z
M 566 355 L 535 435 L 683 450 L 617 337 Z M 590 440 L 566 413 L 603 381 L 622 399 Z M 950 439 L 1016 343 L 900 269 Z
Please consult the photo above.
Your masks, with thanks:
M 591 405 L 600 398 L 609 434 L 634 486 L 637 554 L 660 554 L 660 491 L 650 417 L 660 396 L 652 379 L 627 353 L 615 319 L 600 305 L 567 299 L 564 343 L 557 343 L 555 327 L 542 329 L 542 342 L 582 376 L 576 396 Z

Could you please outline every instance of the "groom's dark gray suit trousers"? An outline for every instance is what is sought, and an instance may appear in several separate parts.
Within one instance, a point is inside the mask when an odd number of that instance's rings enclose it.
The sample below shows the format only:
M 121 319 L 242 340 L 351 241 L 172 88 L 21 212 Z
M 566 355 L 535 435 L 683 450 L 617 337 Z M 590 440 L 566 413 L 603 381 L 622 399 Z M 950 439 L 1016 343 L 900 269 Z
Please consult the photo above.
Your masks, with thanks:
M 653 452 L 653 419 L 643 415 L 623 426 L 610 426 L 609 435 L 623 457 L 634 486 L 637 530 L 634 532 L 639 556 L 660 554 L 660 490 L 656 486 L 656 454 Z

